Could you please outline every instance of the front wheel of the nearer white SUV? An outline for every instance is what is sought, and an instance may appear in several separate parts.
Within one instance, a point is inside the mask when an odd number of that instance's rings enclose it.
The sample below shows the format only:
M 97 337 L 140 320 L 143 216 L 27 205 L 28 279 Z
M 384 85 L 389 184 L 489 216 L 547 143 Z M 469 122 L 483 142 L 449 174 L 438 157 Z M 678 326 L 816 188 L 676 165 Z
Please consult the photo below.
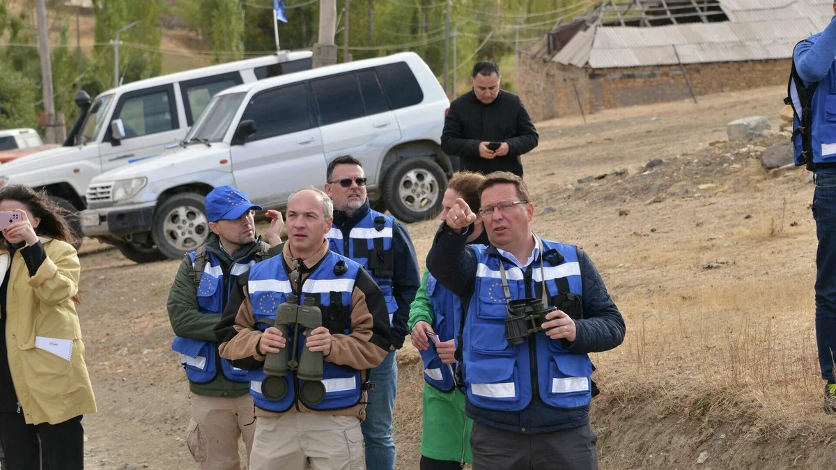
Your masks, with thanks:
M 157 207 L 151 236 L 166 257 L 181 259 L 206 242 L 210 230 L 205 201 L 200 194 L 181 192 Z

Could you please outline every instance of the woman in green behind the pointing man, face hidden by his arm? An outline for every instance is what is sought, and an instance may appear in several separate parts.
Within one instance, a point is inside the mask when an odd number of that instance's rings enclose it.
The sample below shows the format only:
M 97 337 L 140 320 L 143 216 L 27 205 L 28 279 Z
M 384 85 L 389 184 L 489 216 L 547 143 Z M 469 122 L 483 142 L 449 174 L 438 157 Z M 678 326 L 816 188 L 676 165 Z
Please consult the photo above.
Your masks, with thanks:
M 471 211 L 477 212 L 483 179 L 481 173 L 456 173 L 441 201 L 441 220 L 457 199 L 465 200 Z M 478 213 L 467 231 L 467 243 L 490 243 Z M 421 289 L 410 305 L 409 322 L 410 340 L 424 362 L 421 470 L 459 470 L 472 460 L 469 440 L 473 421 L 465 416 L 465 398 L 459 388 L 463 384 L 455 375 L 456 321 L 461 321 L 461 299 L 425 269 Z

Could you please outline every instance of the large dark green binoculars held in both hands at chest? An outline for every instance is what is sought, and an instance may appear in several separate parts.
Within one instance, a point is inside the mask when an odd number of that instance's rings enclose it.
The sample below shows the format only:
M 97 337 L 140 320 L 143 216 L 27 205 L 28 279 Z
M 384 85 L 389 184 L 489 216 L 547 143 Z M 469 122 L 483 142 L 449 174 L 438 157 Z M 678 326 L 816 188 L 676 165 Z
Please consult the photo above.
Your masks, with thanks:
M 298 296 L 290 294 L 286 302 L 278 306 L 276 321 L 273 323 L 282 336 L 288 341 L 287 345 L 278 353 L 269 353 L 264 359 L 264 373 L 268 375 L 262 382 L 262 394 L 268 400 L 281 400 L 288 393 L 288 382 L 285 377 L 290 372 L 303 380 L 299 387 L 299 399 L 306 406 L 318 405 L 325 398 L 325 386 L 322 383 L 323 358 L 322 352 L 313 352 L 303 347 L 301 355 L 297 341 L 299 330 L 308 331 L 322 326 L 322 311 L 314 305 L 314 298 L 308 297 L 303 305 L 298 304 Z M 290 340 L 290 327 L 296 340 Z

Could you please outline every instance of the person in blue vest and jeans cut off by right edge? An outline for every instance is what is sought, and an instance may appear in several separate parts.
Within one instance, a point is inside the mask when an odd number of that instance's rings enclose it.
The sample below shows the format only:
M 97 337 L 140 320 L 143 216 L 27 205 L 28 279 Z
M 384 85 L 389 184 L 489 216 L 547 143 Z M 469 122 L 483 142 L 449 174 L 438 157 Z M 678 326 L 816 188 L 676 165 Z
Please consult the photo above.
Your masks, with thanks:
M 833 3 L 836 13 L 836 2 Z M 836 414 L 836 18 L 821 33 L 793 51 L 790 96 L 794 119 L 795 164 L 814 172 L 813 219 L 816 221 L 816 343 L 824 385 L 824 411 Z M 797 74 L 796 74 L 797 72 Z M 800 80 L 799 80 L 800 79 Z M 803 81 L 803 83 L 799 83 Z M 793 86 L 795 85 L 795 86 Z M 799 96 L 802 103 L 799 103 Z M 803 100 L 806 98 L 807 100 Z M 806 101 L 806 102 L 805 102 Z M 789 104 L 789 103 L 788 103 Z M 807 108 L 807 122 L 800 122 Z

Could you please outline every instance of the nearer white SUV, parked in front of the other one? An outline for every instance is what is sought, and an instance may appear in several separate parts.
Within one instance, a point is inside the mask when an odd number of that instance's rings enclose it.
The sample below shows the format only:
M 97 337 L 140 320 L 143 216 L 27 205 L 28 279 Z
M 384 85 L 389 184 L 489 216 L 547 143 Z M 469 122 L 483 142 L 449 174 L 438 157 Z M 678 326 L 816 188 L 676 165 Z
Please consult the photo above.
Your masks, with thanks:
M 324 186 L 329 161 L 347 154 L 363 162 L 373 207 L 405 222 L 433 217 L 454 171 L 440 146 L 449 105 L 414 53 L 226 89 L 182 148 L 93 179 L 84 234 L 138 263 L 181 258 L 206 240 L 212 188 L 283 209 L 291 192 Z

